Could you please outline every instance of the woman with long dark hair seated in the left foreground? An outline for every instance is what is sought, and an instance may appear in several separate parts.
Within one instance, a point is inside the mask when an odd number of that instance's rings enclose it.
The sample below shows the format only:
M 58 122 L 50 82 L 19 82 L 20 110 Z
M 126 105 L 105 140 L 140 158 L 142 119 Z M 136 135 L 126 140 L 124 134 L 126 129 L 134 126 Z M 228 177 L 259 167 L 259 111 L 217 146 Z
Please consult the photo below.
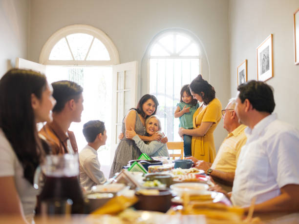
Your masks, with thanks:
M 0 215 L 32 223 L 37 166 L 48 153 L 37 123 L 52 120 L 52 87 L 40 73 L 12 69 L 0 80 Z

